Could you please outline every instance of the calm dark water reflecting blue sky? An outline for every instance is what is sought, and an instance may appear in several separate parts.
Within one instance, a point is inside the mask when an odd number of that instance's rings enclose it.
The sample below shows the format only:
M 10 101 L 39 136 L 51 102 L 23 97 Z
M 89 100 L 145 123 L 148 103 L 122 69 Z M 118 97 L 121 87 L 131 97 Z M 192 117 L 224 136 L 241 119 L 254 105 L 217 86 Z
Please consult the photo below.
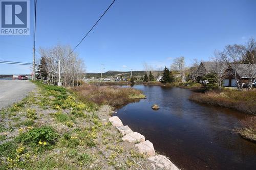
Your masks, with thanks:
M 256 169 L 256 143 L 232 132 L 249 115 L 189 101 L 193 92 L 187 89 L 133 87 L 147 99 L 127 104 L 115 115 L 179 168 Z M 152 110 L 153 104 L 160 109 Z

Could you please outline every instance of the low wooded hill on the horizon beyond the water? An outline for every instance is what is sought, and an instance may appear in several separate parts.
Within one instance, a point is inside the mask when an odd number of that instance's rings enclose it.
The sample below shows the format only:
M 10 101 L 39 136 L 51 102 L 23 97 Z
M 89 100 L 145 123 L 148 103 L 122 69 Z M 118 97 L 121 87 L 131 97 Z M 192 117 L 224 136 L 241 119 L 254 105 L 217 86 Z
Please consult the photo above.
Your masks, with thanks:
M 156 71 L 157 74 L 162 74 L 162 71 Z M 134 77 L 141 77 L 144 76 L 146 73 L 146 71 L 133 71 L 133 76 Z M 106 72 L 102 72 L 102 77 L 130 77 L 131 76 L 131 71 L 114 71 L 114 70 L 109 70 Z M 87 73 L 86 77 L 100 77 L 100 73 Z

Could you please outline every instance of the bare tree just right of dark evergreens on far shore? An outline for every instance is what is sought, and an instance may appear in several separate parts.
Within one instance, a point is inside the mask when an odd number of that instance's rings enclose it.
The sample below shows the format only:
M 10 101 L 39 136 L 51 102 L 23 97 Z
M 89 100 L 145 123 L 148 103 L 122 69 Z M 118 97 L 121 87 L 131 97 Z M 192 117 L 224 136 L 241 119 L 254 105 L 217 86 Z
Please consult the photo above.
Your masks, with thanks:
M 185 82 L 185 58 L 184 57 L 178 57 L 174 59 L 174 62 L 171 66 L 173 70 L 177 70 L 180 73 L 181 81 Z

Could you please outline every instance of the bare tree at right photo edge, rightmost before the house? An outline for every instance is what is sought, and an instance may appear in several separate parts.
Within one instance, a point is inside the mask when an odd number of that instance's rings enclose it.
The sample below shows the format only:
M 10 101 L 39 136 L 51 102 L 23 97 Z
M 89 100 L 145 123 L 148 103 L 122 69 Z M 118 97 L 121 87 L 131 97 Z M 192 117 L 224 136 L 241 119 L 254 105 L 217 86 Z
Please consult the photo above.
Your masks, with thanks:
M 250 90 L 252 87 L 253 80 L 255 80 L 256 77 L 256 42 L 254 38 L 249 39 L 249 41 L 245 44 L 244 50 L 245 55 L 243 57 L 243 62 L 247 64 L 246 75 L 248 77 L 249 84 L 248 90 Z

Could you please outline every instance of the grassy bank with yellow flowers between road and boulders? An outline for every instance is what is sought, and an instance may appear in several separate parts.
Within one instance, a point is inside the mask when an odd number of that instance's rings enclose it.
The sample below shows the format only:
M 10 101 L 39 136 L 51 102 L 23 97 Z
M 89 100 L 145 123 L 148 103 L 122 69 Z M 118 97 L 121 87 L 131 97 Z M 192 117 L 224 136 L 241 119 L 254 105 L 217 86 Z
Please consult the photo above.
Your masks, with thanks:
M 81 102 L 62 87 L 37 86 L 0 112 L 0 169 L 150 169 L 105 120 L 109 106 Z

